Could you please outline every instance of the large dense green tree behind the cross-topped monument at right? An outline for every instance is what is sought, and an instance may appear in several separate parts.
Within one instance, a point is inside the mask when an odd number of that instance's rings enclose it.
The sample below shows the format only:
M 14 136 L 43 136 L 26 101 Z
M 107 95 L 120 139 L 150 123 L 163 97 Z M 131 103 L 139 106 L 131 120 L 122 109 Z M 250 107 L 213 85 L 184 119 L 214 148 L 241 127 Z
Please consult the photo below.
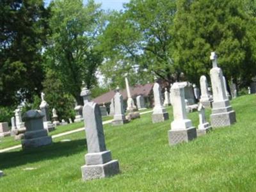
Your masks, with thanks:
M 173 58 L 189 81 L 198 83 L 209 73 L 211 51 L 227 79 L 250 81 L 255 75 L 255 20 L 246 8 L 242 0 L 177 1 Z

